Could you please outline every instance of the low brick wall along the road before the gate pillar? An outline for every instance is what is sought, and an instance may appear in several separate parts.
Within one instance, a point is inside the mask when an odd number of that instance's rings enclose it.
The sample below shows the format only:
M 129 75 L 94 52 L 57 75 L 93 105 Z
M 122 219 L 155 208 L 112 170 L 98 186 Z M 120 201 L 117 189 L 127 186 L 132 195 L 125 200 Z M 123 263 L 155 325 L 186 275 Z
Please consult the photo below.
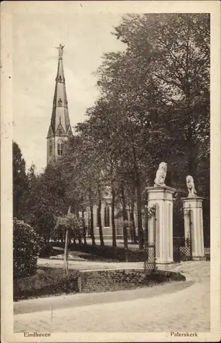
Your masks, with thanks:
M 78 277 L 78 292 L 108 292 L 138 287 L 152 287 L 159 283 L 185 281 L 185 276 L 168 271 L 145 274 L 143 269 L 82 270 Z

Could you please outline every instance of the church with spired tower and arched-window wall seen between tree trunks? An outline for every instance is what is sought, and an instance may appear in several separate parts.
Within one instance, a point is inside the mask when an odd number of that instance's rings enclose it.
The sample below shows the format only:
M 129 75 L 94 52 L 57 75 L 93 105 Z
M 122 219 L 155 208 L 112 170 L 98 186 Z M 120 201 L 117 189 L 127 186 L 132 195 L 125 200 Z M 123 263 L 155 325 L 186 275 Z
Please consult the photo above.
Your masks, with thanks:
M 58 49 L 58 71 L 56 75 L 56 85 L 54 91 L 54 100 L 51 113 L 51 123 L 47 134 L 47 164 L 58 161 L 61 158 L 65 141 L 71 136 L 71 124 L 69 119 L 69 109 L 67 102 L 67 93 L 65 86 L 65 73 L 63 67 L 63 49 L 64 46 L 59 45 Z M 101 217 L 104 237 L 112 236 L 111 227 L 111 196 L 105 196 L 102 201 Z M 93 227 L 95 237 L 99 236 L 99 228 L 97 222 L 97 208 L 98 205 L 93 206 Z M 86 206 L 85 209 L 85 223 L 90 226 L 90 208 Z M 129 209 L 127 209 L 128 220 L 130 218 Z M 116 236 L 123 237 L 123 218 L 121 215 L 121 206 L 115 209 L 115 226 Z M 135 226 L 137 226 L 137 216 L 135 213 Z M 129 233 L 130 235 L 130 233 Z

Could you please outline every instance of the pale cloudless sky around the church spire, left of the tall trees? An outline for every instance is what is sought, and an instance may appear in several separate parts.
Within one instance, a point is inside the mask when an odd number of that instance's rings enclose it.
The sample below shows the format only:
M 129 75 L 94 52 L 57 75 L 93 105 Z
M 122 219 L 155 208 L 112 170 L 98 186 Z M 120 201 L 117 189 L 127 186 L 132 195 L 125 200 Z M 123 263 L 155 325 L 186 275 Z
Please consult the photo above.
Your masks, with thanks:
M 21 147 L 26 167 L 42 172 L 47 158 L 59 44 L 65 45 L 63 64 L 71 126 L 86 119 L 99 91 L 92 75 L 102 55 L 124 49 L 111 34 L 121 15 L 17 14 L 13 18 L 13 139 Z

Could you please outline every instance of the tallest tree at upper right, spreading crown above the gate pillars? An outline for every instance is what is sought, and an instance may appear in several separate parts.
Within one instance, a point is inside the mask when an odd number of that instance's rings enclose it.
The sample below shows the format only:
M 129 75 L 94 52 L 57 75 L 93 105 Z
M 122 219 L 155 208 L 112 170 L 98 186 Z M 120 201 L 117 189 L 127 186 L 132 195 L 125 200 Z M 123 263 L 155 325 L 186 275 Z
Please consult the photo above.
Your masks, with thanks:
M 155 84 L 160 101 L 153 119 L 170 137 L 165 156 L 176 156 L 177 166 L 183 159 L 195 178 L 201 141 L 209 137 L 209 32 L 209 14 L 129 16 L 115 29 L 141 87 Z

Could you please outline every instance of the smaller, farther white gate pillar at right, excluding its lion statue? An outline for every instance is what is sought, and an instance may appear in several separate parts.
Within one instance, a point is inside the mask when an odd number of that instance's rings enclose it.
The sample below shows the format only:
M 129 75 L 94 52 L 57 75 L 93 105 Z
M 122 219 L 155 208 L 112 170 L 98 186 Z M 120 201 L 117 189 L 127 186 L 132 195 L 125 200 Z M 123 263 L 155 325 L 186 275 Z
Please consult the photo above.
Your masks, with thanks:
M 182 200 L 184 211 L 185 239 L 191 239 L 192 257 L 196 260 L 205 259 L 202 221 L 203 198 L 183 198 Z

